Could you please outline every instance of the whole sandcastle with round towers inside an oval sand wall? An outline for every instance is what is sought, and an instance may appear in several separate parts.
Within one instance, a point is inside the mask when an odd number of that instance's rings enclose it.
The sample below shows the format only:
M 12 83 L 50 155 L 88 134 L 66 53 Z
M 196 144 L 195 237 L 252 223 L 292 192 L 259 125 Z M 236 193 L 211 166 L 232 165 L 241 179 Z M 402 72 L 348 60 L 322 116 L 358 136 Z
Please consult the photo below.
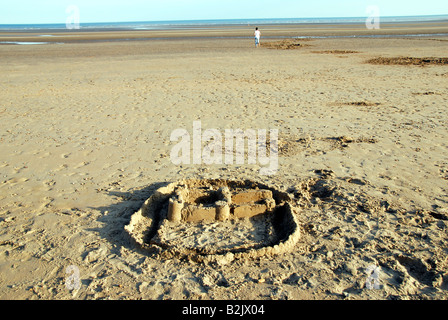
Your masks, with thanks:
M 125 229 L 161 257 L 230 261 L 289 251 L 297 214 L 290 194 L 257 182 L 183 180 L 158 189 Z

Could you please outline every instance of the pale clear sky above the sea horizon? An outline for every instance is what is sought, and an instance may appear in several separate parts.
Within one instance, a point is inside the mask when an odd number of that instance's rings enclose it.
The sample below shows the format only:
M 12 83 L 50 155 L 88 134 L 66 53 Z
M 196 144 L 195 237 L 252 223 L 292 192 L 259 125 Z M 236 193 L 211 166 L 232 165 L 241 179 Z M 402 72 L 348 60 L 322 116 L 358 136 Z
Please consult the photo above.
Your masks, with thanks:
M 448 0 L 1 0 L 0 24 L 65 23 L 70 5 L 83 22 L 364 17 L 448 14 Z

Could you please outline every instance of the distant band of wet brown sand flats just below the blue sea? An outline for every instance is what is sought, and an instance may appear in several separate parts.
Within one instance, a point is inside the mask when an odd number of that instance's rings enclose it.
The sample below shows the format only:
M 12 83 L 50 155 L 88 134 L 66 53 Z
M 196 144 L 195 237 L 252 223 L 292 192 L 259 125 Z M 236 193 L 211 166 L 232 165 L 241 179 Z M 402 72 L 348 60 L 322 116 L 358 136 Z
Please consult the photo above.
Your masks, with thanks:
M 79 43 L 108 41 L 146 41 L 176 39 L 245 39 L 252 38 L 255 26 L 207 26 L 200 28 L 166 30 L 0 30 L 0 44 L 25 43 Z M 383 23 L 379 30 L 369 30 L 364 24 L 278 24 L 258 25 L 265 39 L 284 38 L 392 38 L 448 36 L 448 22 Z

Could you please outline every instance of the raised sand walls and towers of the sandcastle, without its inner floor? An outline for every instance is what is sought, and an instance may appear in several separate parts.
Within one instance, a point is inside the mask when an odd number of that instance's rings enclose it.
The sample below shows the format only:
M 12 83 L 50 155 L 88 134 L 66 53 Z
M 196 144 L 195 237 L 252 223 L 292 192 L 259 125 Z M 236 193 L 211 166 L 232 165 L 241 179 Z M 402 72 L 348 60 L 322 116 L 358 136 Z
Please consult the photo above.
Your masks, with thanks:
M 231 186 L 231 188 L 229 188 Z M 213 188 L 212 188 L 213 187 Z M 126 231 L 142 249 L 162 248 L 161 256 L 188 257 L 196 262 L 256 258 L 291 250 L 300 238 L 297 208 L 287 194 L 257 183 L 237 183 L 223 180 L 181 181 L 158 189 L 131 218 Z M 163 213 L 163 208 L 166 212 Z M 254 248 L 219 251 L 206 254 L 194 248 L 170 248 L 161 244 L 158 228 L 162 221 L 193 225 L 198 222 L 235 221 L 270 215 L 275 225 L 274 243 Z M 164 224 L 170 226 L 170 224 Z M 188 228 L 188 225 L 186 225 Z M 174 251 L 173 251 L 174 250 Z

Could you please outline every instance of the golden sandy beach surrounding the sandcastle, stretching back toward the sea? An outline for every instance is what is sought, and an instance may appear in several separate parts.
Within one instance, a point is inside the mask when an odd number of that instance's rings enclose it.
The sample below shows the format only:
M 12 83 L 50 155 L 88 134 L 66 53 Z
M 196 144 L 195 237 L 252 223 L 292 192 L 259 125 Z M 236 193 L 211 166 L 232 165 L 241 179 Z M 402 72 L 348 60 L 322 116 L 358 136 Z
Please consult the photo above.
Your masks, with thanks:
M 2 33 L 54 43 L 0 45 L 0 298 L 446 299 L 448 27 L 275 39 L 351 28 L 266 26 L 258 49 L 252 26 Z M 173 164 L 171 133 L 195 121 L 278 129 L 278 172 Z M 295 247 L 213 263 L 136 248 L 124 227 L 156 189 L 218 178 L 290 193 Z

